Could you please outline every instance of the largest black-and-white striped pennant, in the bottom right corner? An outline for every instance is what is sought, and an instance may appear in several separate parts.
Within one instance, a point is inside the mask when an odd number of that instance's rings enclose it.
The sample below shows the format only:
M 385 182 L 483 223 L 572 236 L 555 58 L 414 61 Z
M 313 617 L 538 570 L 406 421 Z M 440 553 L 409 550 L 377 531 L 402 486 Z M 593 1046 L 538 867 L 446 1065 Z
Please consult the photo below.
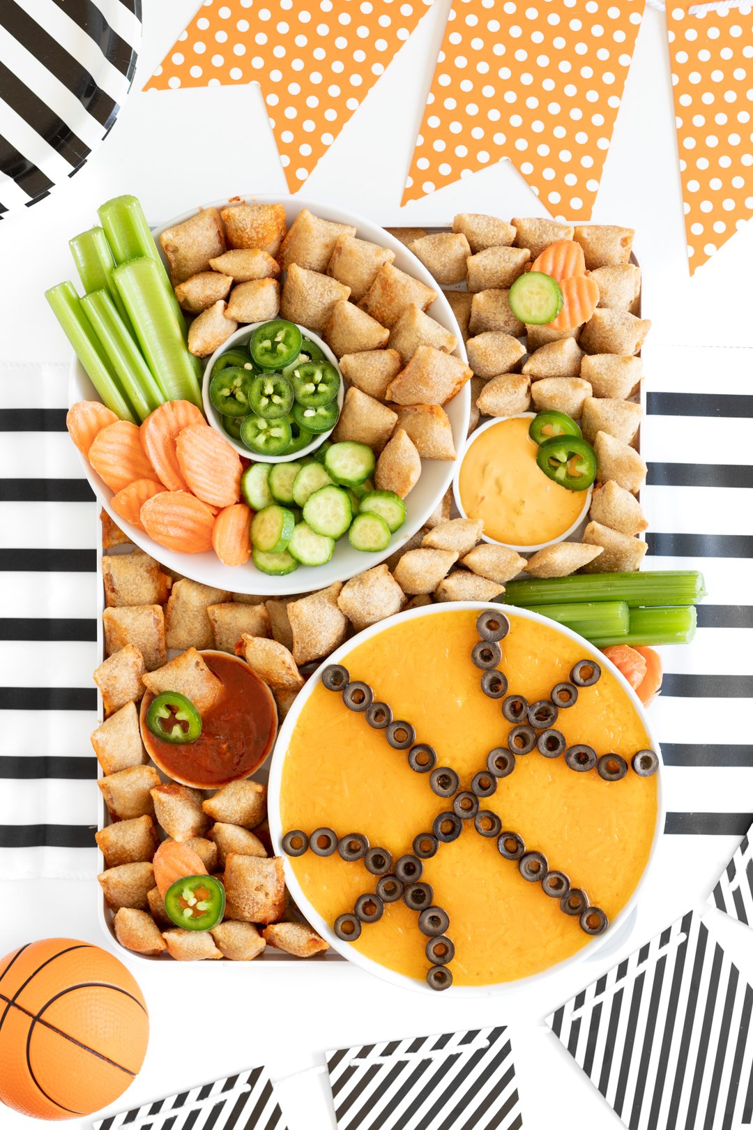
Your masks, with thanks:
M 753 1116 L 753 989 L 689 912 L 546 1018 L 630 1130 Z

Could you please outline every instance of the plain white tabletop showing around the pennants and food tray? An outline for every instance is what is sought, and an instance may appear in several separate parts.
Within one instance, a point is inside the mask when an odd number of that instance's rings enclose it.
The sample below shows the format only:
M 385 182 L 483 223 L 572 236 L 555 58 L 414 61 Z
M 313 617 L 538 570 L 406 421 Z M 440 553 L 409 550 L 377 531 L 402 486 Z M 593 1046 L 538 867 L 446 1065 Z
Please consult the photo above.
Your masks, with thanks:
M 157 221 L 222 195 L 287 191 L 255 87 L 141 93 L 193 15 L 196 0 L 145 0 L 143 7 L 139 70 L 112 134 L 49 200 L 10 215 L 0 225 L 3 360 L 63 360 L 68 356 L 43 292 L 70 276 L 67 240 L 94 223 L 96 206 L 103 200 L 133 192 Z M 391 225 L 441 224 L 459 210 L 505 217 L 543 214 L 507 163 L 403 210 L 399 207 L 447 8 L 447 0 L 435 0 L 434 10 L 309 179 L 307 195 Z M 637 228 L 643 316 L 654 322 L 654 342 L 753 344 L 748 267 L 753 226 L 738 233 L 694 279 L 689 277 L 666 33 L 664 18 L 650 9 L 638 37 L 593 218 Z M 649 373 L 649 388 L 650 381 Z M 721 391 L 718 383 L 716 391 Z M 750 796 L 752 772 L 736 772 L 741 789 Z M 750 807 L 747 798 L 741 799 L 741 807 Z M 673 807 L 672 797 L 668 801 Z M 711 841 L 665 837 L 655 877 L 663 895 L 650 904 L 658 902 L 660 910 L 639 910 L 636 929 L 621 954 L 690 906 L 702 906 L 734 846 L 735 840 L 726 836 Z M 0 904 L 6 907 L 0 919 L 0 954 L 55 935 L 105 944 L 96 920 L 94 876 L 88 881 L 0 881 Z M 710 919 L 742 971 L 753 976 L 751 935 L 717 912 Z M 279 1097 L 289 1130 L 327 1130 L 334 1119 L 326 1077 L 316 1071 L 298 1075 L 322 1064 L 325 1049 L 509 1024 L 527 1127 L 616 1127 L 616 1118 L 542 1023 L 613 960 L 604 956 L 583 962 L 541 984 L 511 989 L 481 1002 L 454 1000 L 452 994 L 434 999 L 405 993 L 340 963 L 132 964 L 149 1005 L 151 1042 L 143 1070 L 113 1110 L 265 1062 L 272 1078 L 280 1080 Z M 194 1031 L 185 1022 L 186 1005 L 192 1003 L 199 1020 Z M 2 1130 L 28 1125 L 25 1118 L 0 1111 Z M 90 1120 L 73 1120 L 69 1125 L 78 1130 L 90 1125 Z

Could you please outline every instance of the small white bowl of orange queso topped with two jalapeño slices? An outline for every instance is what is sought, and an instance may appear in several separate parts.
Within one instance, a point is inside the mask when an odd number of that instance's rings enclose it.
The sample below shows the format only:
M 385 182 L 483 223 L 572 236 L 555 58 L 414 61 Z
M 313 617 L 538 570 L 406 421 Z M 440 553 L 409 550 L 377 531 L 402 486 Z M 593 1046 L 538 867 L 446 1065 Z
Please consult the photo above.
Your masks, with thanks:
M 536 463 L 528 435 L 535 412 L 492 419 L 473 433 L 453 493 L 463 518 L 483 520 L 483 540 L 536 553 L 563 541 L 585 519 L 592 488 L 568 490 Z

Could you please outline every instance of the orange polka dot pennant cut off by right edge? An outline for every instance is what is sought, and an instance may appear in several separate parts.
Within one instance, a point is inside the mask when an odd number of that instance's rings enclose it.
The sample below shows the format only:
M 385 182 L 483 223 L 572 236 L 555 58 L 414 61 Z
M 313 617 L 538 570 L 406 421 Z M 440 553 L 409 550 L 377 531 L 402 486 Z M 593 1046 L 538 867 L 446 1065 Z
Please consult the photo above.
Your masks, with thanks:
M 752 14 L 667 5 L 691 275 L 753 216 Z

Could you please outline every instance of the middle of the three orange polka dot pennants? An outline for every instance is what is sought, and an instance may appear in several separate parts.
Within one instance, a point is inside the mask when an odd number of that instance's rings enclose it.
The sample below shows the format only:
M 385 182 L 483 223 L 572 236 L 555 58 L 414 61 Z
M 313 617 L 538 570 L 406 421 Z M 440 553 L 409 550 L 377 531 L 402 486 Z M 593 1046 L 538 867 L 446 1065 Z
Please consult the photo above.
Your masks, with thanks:
M 403 203 L 508 157 L 590 219 L 643 0 L 454 0 Z

